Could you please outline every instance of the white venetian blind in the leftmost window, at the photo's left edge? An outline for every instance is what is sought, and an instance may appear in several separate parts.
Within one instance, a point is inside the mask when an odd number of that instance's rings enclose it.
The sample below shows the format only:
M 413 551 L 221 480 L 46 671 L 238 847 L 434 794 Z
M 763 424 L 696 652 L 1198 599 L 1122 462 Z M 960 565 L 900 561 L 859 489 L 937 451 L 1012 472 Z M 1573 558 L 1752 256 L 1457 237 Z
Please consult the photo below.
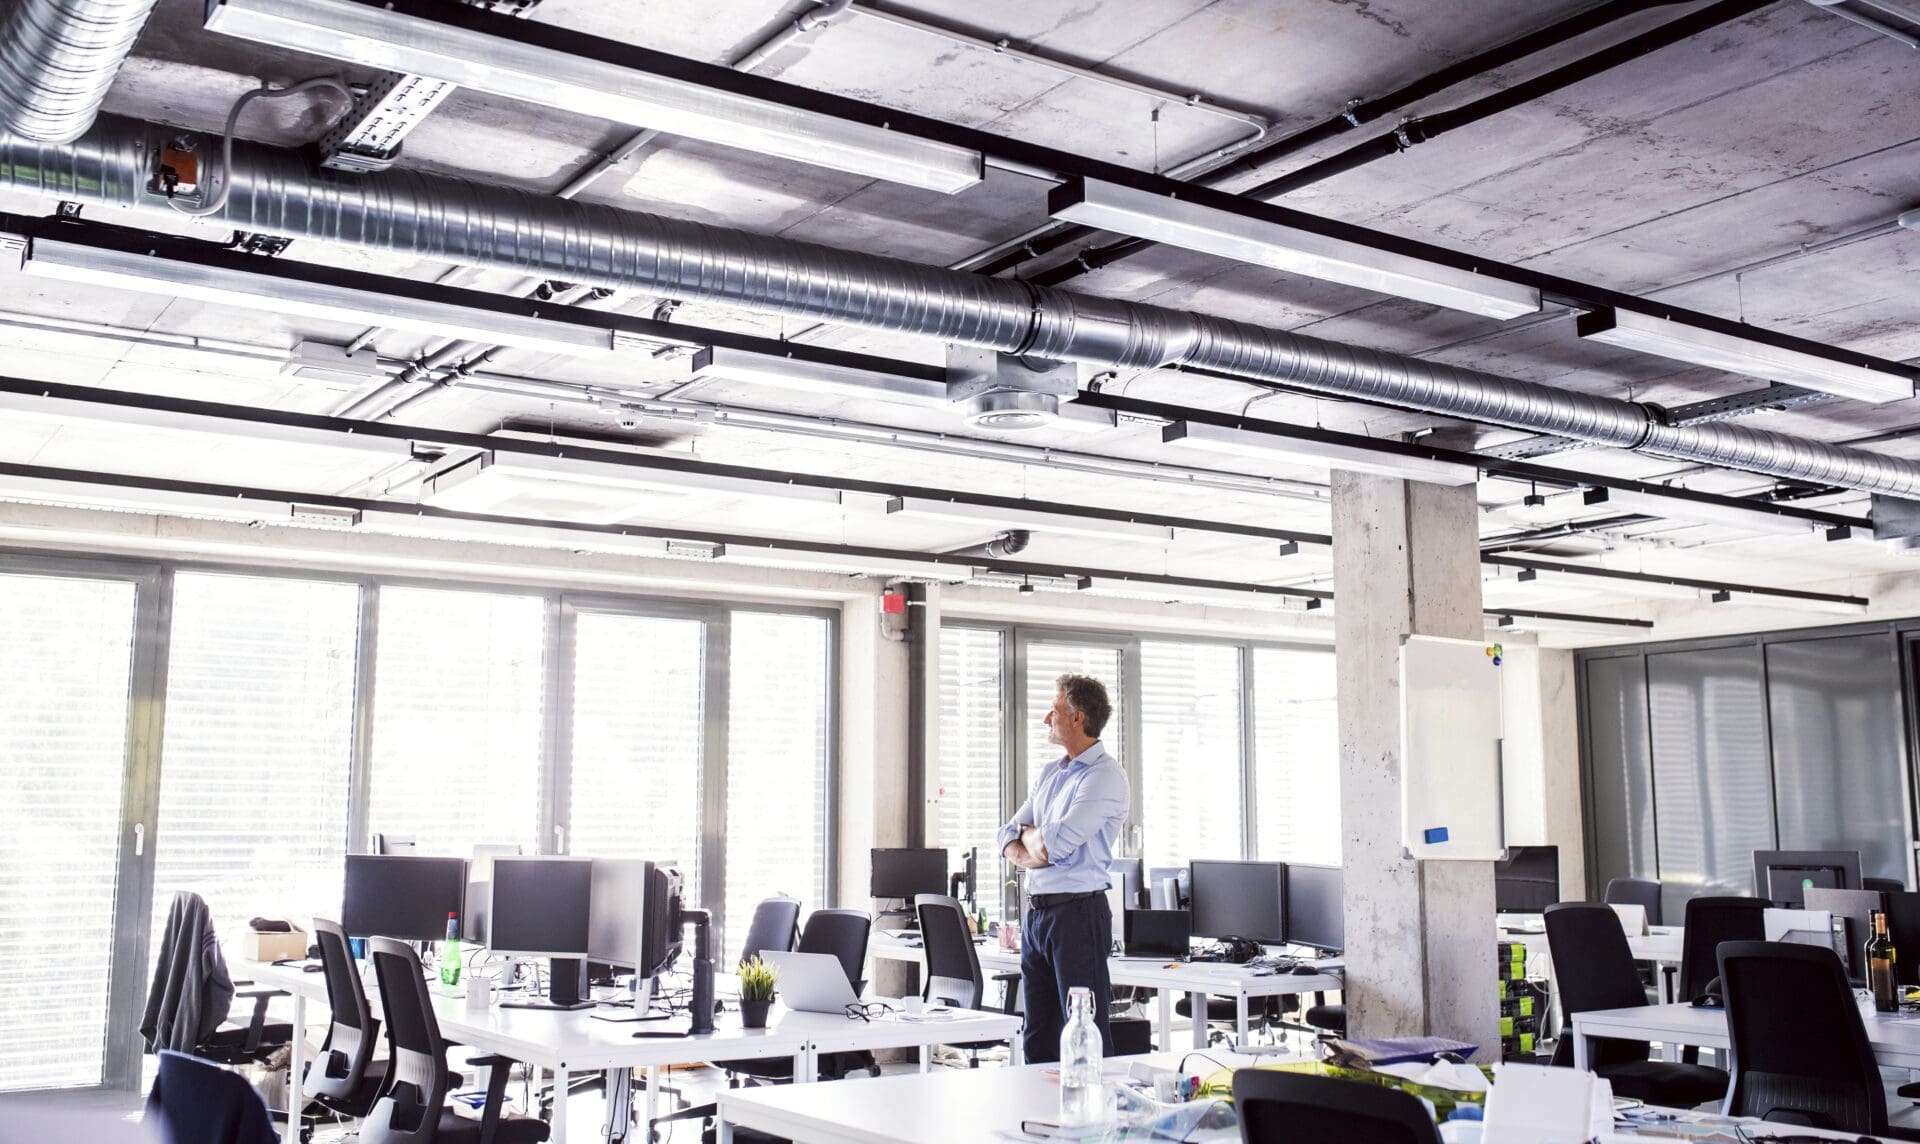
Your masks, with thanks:
M 134 585 L 0 576 L 0 1090 L 98 1084 Z

